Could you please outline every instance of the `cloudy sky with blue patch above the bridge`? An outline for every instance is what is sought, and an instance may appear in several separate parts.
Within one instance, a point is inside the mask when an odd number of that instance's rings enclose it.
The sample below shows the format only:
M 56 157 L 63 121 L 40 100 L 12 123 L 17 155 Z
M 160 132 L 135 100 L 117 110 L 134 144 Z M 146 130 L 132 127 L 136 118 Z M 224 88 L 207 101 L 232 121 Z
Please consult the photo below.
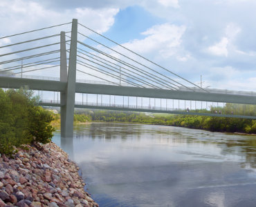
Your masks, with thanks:
M 253 0 L 1 0 L 0 37 L 78 19 L 82 25 L 193 83 L 198 83 L 202 75 L 203 86 L 255 90 L 255 8 L 256 1 Z M 110 48 L 139 60 L 93 32 L 81 26 L 78 29 Z M 33 39 L 36 35 L 57 34 L 61 30 L 70 31 L 71 25 L 52 28 L 51 32 L 42 30 L 0 39 L 0 47 Z M 90 43 L 81 35 L 78 39 Z M 53 43 L 53 40 L 47 39 L 46 42 Z M 113 53 L 97 43 L 91 44 Z M 21 48 L 21 45 L 0 48 L 0 54 Z M 17 58 L 19 54 L 12 57 Z M 6 57 L 0 57 L 0 61 L 3 60 Z M 169 77 L 169 72 L 143 59 L 140 61 Z M 42 71 L 30 74 L 42 75 Z M 58 72 L 54 74 L 57 76 Z M 80 76 L 80 79 L 94 79 Z

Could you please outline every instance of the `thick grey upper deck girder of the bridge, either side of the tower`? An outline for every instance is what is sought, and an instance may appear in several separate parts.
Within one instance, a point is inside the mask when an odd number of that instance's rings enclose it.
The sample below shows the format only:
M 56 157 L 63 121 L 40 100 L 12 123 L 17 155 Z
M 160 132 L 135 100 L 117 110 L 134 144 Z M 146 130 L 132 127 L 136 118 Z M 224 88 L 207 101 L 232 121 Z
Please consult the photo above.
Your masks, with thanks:
M 15 77 L 0 77 L 0 88 L 20 88 L 29 86 L 32 90 L 48 90 L 64 92 L 65 81 L 45 79 L 19 79 Z M 147 97 L 157 99 L 180 99 L 191 101 L 213 101 L 221 103 L 255 104 L 256 96 L 230 95 L 208 92 L 192 92 L 182 90 L 165 90 L 156 88 L 135 88 L 129 86 L 109 86 L 92 83 L 75 83 L 75 92 L 98 95 L 116 95 L 129 97 Z

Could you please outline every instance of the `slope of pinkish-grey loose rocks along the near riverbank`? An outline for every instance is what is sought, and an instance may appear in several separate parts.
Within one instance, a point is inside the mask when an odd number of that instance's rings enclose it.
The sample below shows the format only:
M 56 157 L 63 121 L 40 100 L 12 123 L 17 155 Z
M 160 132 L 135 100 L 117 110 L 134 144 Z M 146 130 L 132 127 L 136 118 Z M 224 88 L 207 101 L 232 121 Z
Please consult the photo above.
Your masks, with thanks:
M 98 207 L 79 167 L 53 142 L 26 145 L 10 157 L 0 154 L 0 207 Z

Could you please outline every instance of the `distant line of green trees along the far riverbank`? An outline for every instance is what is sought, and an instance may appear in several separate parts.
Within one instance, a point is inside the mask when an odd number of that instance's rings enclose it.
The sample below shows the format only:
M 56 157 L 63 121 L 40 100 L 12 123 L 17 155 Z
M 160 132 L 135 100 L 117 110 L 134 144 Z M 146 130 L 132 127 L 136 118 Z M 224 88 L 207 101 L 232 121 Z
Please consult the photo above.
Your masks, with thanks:
M 255 106 L 227 103 L 224 107 L 211 107 L 210 110 L 202 109 L 196 112 L 210 112 L 228 115 L 255 116 Z M 190 112 L 195 112 L 190 110 Z M 80 122 L 116 122 L 132 124 L 154 124 L 167 126 L 181 126 L 217 132 L 246 132 L 256 133 L 256 120 L 238 119 L 228 117 L 207 117 L 196 115 L 168 115 L 151 114 L 145 112 L 127 112 L 116 110 L 91 110 L 75 108 L 74 121 Z

